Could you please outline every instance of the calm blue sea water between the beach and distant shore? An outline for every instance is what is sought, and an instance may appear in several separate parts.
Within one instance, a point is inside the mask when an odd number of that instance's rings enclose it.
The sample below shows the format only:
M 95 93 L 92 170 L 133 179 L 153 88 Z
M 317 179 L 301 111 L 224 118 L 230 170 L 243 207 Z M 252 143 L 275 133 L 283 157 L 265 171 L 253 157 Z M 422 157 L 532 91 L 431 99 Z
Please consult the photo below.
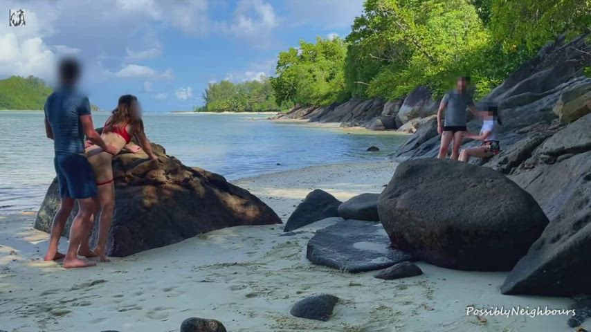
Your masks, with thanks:
M 109 113 L 93 114 L 101 127 Z M 273 122 L 265 115 L 146 113 L 150 140 L 185 165 L 236 180 L 311 165 L 385 160 L 408 136 Z M 376 145 L 381 150 L 367 152 Z M 0 214 L 36 210 L 53 180 L 41 111 L 0 111 Z

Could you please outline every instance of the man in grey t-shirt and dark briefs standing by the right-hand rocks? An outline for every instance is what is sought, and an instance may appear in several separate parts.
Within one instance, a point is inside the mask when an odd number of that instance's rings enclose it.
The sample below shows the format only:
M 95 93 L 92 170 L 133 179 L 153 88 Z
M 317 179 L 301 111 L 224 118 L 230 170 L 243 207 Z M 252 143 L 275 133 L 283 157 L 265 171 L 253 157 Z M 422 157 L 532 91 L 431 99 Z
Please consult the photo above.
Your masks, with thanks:
M 439 156 L 444 159 L 447 156 L 449 143 L 453 141 L 451 158 L 457 160 L 460 156 L 460 146 L 464 131 L 466 131 L 466 108 L 469 108 L 473 114 L 476 114 L 476 107 L 472 94 L 466 89 L 470 83 L 469 76 L 457 78 L 457 88 L 444 95 L 439 110 L 437 110 L 437 132 L 442 135 L 441 147 L 439 147 Z M 442 124 L 442 113 L 445 110 L 445 122 Z

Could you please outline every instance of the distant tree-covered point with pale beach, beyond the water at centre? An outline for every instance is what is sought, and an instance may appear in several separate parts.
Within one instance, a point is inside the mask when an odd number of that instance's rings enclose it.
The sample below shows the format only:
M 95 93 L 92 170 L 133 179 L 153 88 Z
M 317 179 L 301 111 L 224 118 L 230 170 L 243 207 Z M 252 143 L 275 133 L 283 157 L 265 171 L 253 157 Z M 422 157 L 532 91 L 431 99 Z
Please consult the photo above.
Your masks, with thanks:
M 203 100 L 205 105 L 195 107 L 195 112 L 279 112 L 293 106 L 278 105 L 268 77 L 242 83 L 233 83 L 229 80 L 212 82 L 203 92 Z

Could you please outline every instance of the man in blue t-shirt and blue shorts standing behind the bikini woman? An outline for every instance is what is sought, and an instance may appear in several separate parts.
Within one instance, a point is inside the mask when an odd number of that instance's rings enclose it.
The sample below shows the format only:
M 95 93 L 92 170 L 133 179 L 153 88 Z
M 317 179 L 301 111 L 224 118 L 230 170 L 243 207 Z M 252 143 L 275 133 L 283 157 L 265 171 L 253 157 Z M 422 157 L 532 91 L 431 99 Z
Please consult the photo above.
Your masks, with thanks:
M 64 258 L 64 268 L 83 268 L 94 263 L 78 259 L 78 247 L 84 237 L 84 223 L 92 223 L 93 197 L 97 195 L 96 180 L 86 156 L 84 155 L 84 134 L 94 144 L 110 154 L 117 149 L 105 145 L 94 129 L 87 96 L 76 90 L 80 77 L 80 64 L 74 59 L 60 62 L 58 75 L 60 88 L 53 92 L 45 102 L 45 131 L 54 142 L 54 166 L 57 183 L 60 187 L 60 210 L 53 218 L 49 248 L 46 261 Z M 57 244 L 66 225 L 68 216 L 78 201 L 78 214 L 70 228 L 70 244 L 66 255 L 57 252 Z

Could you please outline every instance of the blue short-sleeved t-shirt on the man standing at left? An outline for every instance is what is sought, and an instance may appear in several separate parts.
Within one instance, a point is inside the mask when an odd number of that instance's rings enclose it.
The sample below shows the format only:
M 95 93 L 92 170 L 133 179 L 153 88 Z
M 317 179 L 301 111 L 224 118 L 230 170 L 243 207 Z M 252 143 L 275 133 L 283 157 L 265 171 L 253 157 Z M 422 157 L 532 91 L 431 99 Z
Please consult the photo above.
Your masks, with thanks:
M 89 98 L 74 89 L 60 89 L 49 95 L 45 102 L 45 117 L 53 131 L 55 154 L 84 153 L 80 116 L 90 113 Z

